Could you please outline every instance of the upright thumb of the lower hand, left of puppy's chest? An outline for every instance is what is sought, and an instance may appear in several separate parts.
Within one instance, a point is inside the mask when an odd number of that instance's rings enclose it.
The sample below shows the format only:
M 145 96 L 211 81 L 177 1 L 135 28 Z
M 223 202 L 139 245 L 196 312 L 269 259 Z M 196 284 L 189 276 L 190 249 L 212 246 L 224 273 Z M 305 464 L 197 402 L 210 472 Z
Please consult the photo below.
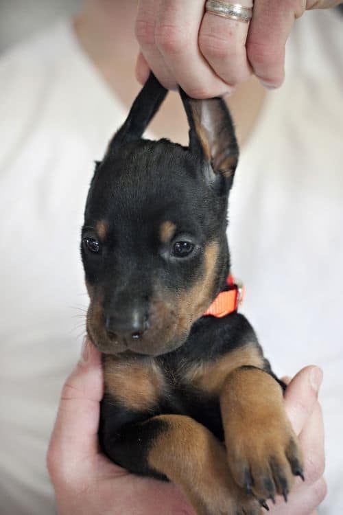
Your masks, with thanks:
M 101 354 L 89 339 L 82 358 L 67 378 L 48 452 L 48 466 L 80 462 L 98 451 L 99 402 L 103 396 Z

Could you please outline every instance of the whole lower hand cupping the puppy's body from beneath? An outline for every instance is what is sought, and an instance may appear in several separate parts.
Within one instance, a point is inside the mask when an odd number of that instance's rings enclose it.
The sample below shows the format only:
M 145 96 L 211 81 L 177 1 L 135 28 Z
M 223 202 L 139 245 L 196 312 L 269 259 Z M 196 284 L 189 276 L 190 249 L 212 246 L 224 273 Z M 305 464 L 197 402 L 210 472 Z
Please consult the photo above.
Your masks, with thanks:
M 67 379 L 47 455 L 58 515 L 195 515 L 172 483 L 138 477 L 99 451 L 99 401 L 103 395 L 100 354 L 88 341 L 83 360 Z M 322 418 L 316 391 L 309 384 L 314 367 L 303 369 L 289 385 L 285 406 L 305 455 L 304 484 L 289 502 L 276 503 L 272 515 L 309 515 L 322 500 Z M 307 511 L 306 511 L 307 510 Z

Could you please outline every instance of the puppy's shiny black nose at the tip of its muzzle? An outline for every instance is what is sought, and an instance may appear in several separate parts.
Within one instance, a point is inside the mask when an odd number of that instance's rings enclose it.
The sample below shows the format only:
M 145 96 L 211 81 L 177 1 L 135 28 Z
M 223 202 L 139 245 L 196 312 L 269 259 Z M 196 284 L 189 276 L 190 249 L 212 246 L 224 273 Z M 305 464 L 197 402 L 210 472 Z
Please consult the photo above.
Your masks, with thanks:
M 141 310 L 133 310 L 130 315 L 108 315 L 105 317 L 105 327 L 111 339 L 139 339 L 148 327 L 147 316 Z

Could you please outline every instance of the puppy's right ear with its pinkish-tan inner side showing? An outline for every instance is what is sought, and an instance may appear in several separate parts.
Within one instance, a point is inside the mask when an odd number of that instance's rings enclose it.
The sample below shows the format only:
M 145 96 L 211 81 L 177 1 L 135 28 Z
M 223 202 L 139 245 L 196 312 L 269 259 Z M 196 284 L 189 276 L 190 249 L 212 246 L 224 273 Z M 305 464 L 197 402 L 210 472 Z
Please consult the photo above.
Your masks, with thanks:
M 189 122 L 189 148 L 209 161 L 213 171 L 233 179 L 239 150 L 230 113 L 222 98 L 196 100 L 180 89 Z

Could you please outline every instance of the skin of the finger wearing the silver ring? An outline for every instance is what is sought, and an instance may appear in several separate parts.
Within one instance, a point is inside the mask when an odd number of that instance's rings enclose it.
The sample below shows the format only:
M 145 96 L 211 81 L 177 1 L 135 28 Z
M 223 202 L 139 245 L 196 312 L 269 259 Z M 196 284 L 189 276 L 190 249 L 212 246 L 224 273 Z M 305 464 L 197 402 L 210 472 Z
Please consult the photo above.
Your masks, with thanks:
M 252 7 L 251 0 L 241 0 L 242 7 Z M 248 23 L 205 12 L 199 33 L 199 47 L 217 76 L 235 86 L 247 80 L 251 68 L 246 55 Z

